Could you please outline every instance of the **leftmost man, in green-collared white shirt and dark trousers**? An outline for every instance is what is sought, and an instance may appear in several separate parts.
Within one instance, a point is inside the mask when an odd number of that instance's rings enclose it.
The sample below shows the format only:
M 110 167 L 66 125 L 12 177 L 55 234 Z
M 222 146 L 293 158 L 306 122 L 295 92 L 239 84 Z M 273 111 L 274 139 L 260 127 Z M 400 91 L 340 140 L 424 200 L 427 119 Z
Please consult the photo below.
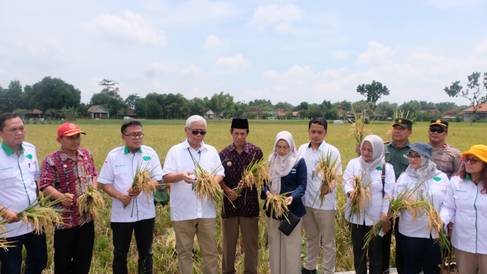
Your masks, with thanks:
M 7 250 L 0 248 L 0 273 L 20 274 L 22 246 L 25 246 L 24 273 L 40 274 L 47 264 L 46 235 L 36 235 L 36 227 L 27 226 L 17 214 L 37 202 L 37 183 L 40 178 L 36 147 L 24 142 L 24 122 L 18 114 L 0 115 L 0 213 L 8 223 L 7 242 L 15 242 Z M 4 237 L 5 235 L 1 235 Z

